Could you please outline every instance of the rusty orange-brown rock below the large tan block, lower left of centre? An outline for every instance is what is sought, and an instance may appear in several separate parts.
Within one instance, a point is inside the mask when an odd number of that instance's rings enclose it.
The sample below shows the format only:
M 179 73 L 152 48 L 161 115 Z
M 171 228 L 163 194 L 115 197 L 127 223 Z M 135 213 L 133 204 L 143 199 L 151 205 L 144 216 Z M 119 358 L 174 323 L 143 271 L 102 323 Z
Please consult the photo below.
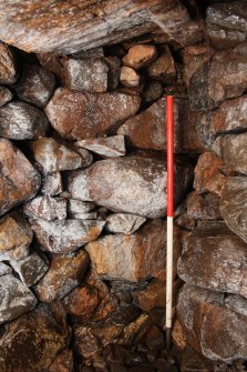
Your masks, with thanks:
M 83 284 L 75 288 L 64 299 L 63 303 L 69 314 L 93 320 L 100 302 L 100 294 L 95 286 Z

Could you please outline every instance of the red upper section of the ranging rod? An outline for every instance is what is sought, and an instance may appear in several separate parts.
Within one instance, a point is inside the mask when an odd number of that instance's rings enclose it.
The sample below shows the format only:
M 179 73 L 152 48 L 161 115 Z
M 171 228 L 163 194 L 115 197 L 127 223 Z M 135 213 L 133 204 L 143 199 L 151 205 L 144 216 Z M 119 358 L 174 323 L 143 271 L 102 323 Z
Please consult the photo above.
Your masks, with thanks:
M 167 217 L 173 217 L 173 188 L 174 188 L 174 124 L 173 124 L 173 95 L 166 97 L 166 152 L 167 152 Z

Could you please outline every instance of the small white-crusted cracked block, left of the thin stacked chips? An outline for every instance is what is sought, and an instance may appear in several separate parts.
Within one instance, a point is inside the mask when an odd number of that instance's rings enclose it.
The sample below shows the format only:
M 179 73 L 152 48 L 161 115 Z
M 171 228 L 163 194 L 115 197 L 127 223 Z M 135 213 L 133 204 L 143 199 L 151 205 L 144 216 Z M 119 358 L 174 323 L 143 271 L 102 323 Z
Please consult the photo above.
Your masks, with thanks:
M 33 218 L 40 218 L 45 221 L 55 219 L 65 220 L 66 200 L 62 198 L 37 197 L 28 202 L 23 212 Z

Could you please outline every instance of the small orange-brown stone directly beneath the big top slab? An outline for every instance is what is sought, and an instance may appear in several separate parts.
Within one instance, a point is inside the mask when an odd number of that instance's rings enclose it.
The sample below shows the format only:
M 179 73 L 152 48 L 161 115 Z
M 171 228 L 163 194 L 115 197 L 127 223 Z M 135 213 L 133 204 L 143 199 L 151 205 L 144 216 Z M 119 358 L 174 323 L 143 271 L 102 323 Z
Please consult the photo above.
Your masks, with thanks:
M 122 62 L 124 66 L 140 70 L 152 63 L 156 57 L 157 50 L 154 46 L 134 46 L 128 49 L 127 54 L 124 56 Z

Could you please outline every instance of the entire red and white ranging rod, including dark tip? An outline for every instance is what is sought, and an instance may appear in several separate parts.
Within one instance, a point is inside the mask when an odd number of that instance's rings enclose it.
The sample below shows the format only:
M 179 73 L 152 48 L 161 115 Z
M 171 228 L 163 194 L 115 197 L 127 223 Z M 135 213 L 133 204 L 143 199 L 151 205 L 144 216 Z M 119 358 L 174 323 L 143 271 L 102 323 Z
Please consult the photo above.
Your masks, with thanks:
M 174 124 L 173 97 L 166 97 L 166 153 L 167 153 L 167 241 L 166 241 L 166 346 L 171 348 L 173 321 L 173 191 L 174 191 Z

